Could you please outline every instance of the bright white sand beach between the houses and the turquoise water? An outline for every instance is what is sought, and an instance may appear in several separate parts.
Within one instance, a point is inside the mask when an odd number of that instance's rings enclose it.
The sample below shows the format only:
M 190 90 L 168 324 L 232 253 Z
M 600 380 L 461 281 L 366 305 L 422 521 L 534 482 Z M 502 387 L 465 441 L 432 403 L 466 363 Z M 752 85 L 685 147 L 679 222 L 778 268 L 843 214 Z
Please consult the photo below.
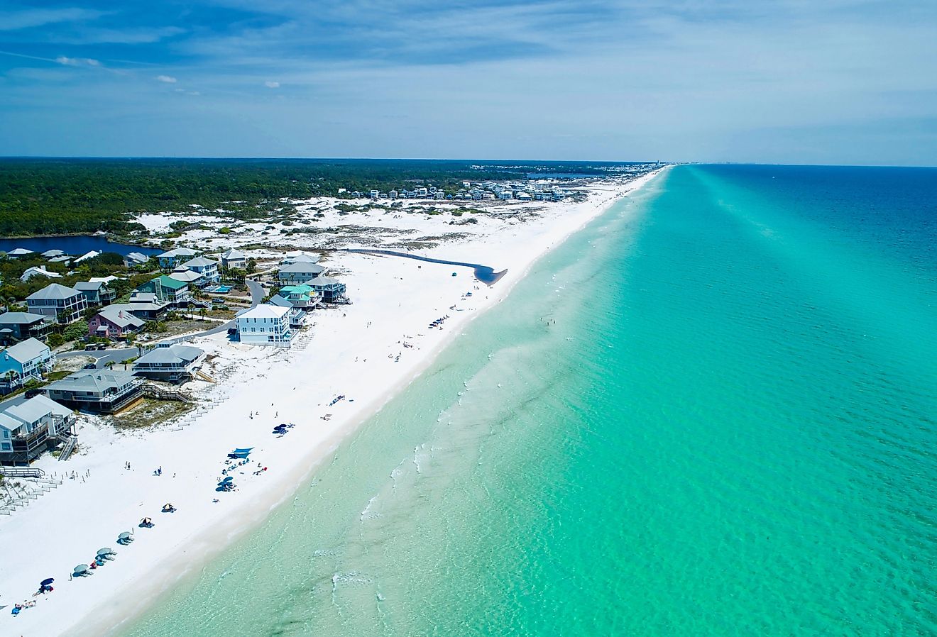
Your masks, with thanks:
M 259 525 L 343 437 L 420 374 L 468 320 L 503 299 L 533 261 L 654 174 L 627 184 L 605 180 L 589 185 L 584 202 L 528 204 L 526 218 L 492 215 L 444 230 L 448 222 L 438 217 L 355 212 L 339 217 L 321 207 L 322 223 L 353 225 L 359 228 L 357 236 L 373 239 L 341 247 L 405 250 L 395 244 L 401 236 L 457 232 L 435 247 L 412 251 L 507 274 L 487 287 L 466 267 L 330 253 L 324 260 L 348 285 L 352 304 L 317 310 L 289 349 L 231 344 L 223 334 L 194 341 L 212 355 L 205 371 L 217 382 L 193 383 L 201 404 L 211 408 L 200 410 L 186 426 L 168 422 L 125 433 L 82 417 L 80 451 L 67 462 L 46 454 L 36 463 L 59 478 L 66 473 L 75 478 L 0 517 L 7 548 L 0 562 L 0 605 L 7 606 L 0 612 L 0 634 L 101 635 L 139 615 L 186 572 Z M 315 202 L 305 209 L 320 211 Z M 141 222 L 168 223 L 159 215 Z M 194 230 L 185 238 L 206 248 L 303 241 L 298 235 L 260 238 L 263 228 L 242 224 L 221 238 Z M 305 236 L 311 249 L 327 240 Z M 441 317 L 448 317 L 441 327 L 429 327 Z M 329 405 L 342 394 L 344 399 Z M 280 422 L 295 426 L 275 437 L 272 429 Z M 238 447 L 253 448 L 250 462 L 228 474 L 236 491 L 217 493 L 226 455 Z M 177 511 L 161 513 L 167 502 Z M 139 527 L 144 516 L 156 526 Z M 123 531 L 132 531 L 135 541 L 118 545 Z M 90 577 L 69 580 L 73 567 L 89 564 L 101 547 L 114 549 L 115 559 Z M 54 590 L 32 597 L 48 577 L 55 578 Z M 37 603 L 11 615 L 10 607 L 23 600 Z

